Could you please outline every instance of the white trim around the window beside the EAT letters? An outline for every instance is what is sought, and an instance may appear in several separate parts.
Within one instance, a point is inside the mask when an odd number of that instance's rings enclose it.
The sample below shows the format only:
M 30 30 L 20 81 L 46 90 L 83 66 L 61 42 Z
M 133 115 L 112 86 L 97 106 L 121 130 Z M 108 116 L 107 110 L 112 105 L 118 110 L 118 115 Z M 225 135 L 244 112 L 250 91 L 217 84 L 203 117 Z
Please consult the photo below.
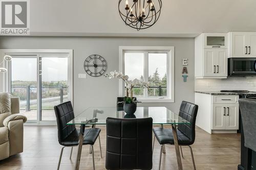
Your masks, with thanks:
M 168 91 L 168 98 L 159 99 L 159 98 L 138 98 L 139 101 L 142 103 L 174 103 L 174 46 L 119 46 L 119 71 L 124 72 L 124 52 L 125 51 L 154 51 L 154 52 L 162 52 L 167 51 L 167 76 L 168 76 L 168 83 L 167 88 Z M 147 61 L 144 61 L 147 62 Z M 148 71 L 148 70 L 144 70 Z M 147 78 L 146 78 L 147 79 Z M 146 80 L 145 80 L 146 81 Z M 119 80 L 119 96 L 124 96 L 124 82 Z

